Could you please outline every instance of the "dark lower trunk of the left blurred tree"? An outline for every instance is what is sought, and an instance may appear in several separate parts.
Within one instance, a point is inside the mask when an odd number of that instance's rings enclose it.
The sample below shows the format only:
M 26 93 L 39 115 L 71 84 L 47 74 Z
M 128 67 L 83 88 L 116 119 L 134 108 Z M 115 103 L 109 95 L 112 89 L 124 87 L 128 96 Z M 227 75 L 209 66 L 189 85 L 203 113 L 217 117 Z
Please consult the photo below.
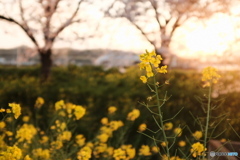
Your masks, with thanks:
M 41 83 L 45 82 L 50 74 L 52 68 L 52 50 L 42 50 L 40 51 L 40 58 L 41 58 Z

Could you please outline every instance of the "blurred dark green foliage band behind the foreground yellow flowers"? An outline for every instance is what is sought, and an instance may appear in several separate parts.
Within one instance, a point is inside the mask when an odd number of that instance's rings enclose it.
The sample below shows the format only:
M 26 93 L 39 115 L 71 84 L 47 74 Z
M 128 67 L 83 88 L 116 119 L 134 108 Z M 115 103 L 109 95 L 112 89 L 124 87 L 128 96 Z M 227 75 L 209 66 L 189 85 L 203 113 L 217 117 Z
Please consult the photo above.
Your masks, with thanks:
M 157 129 L 149 111 L 139 103 L 147 103 L 147 97 L 151 96 L 149 88 L 139 80 L 140 75 L 137 66 L 128 68 L 125 73 L 114 68 L 104 70 L 94 66 L 56 67 L 53 68 L 50 79 L 44 84 L 40 84 L 39 67 L 37 66 L 0 67 L 0 104 L 1 108 L 5 108 L 8 103 L 20 103 L 26 110 L 25 113 L 33 114 L 35 100 L 37 97 L 43 97 L 45 104 L 41 109 L 41 115 L 46 120 L 51 117 L 49 111 L 53 111 L 54 103 L 59 100 L 83 105 L 87 109 L 87 114 L 79 124 L 79 129 L 89 137 L 93 137 L 94 132 L 99 129 L 100 119 L 107 115 L 109 106 L 118 108 L 117 113 L 119 114 L 114 117 L 116 120 L 126 118 L 131 109 L 138 108 L 141 110 L 141 116 L 128 132 L 128 140 L 133 141 L 130 137 L 134 134 L 139 135 L 136 131 L 140 123 L 147 123 L 149 128 Z M 238 125 L 240 122 L 240 99 L 238 98 L 239 89 L 236 85 L 240 74 L 231 71 L 221 75 L 221 81 L 215 87 L 212 95 L 216 97 L 216 102 L 213 104 L 221 105 L 212 114 L 217 116 L 228 113 L 229 116 L 228 120 L 223 121 L 216 129 L 216 133 L 228 128 L 218 139 L 239 140 L 228 123 L 235 128 L 237 133 L 240 133 Z M 159 82 L 164 84 L 160 95 L 164 97 L 167 93 L 170 97 L 163 107 L 165 118 L 171 118 L 184 107 L 180 114 L 172 120 L 174 126 L 188 125 L 192 132 L 200 130 L 190 112 L 199 117 L 204 115 L 202 104 L 197 98 L 203 98 L 207 93 L 202 88 L 201 73 L 196 70 L 170 70 L 168 74 L 160 76 L 158 77 Z M 166 81 L 169 81 L 169 84 Z M 154 100 L 149 103 L 154 104 Z M 44 122 L 42 123 L 44 124 Z M 183 133 L 191 134 L 187 129 L 184 129 Z

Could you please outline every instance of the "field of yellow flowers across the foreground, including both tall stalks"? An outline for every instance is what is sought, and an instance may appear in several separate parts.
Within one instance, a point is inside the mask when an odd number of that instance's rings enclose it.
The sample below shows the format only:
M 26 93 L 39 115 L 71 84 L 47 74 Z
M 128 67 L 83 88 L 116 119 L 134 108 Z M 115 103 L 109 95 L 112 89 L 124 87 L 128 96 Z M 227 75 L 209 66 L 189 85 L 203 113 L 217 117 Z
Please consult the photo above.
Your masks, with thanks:
M 213 97 L 220 73 L 213 67 L 202 71 L 203 95 L 197 99 L 203 112 L 188 114 L 198 126 L 192 128 L 190 123 L 178 121 L 182 107 L 166 109 L 172 100 L 167 92 L 162 94 L 170 85 L 168 79 L 161 79 L 168 72 L 167 66 L 160 65 L 162 58 L 146 51 L 140 60 L 138 80 L 149 89 L 149 95 L 137 102 L 144 112 L 134 106 L 109 106 L 106 112 L 102 109 L 94 113 L 96 117 L 102 115 L 97 124 L 82 125 L 88 122 L 83 119 L 89 117 L 91 107 L 59 100 L 46 108 L 46 100 L 38 97 L 31 112 L 18 103 L 9 103 L 0 107 L 0 160 L 207 159 L 209 140 L 228 132 L 221 126 L 227 114 L 215 112 L 222 102 Z M 233 124 L 228 123 L 239 137 Z M 91 125 L 99 127 L 89 134 L 86 130 Z M 220 140 L 230 142 L 228 137 Z

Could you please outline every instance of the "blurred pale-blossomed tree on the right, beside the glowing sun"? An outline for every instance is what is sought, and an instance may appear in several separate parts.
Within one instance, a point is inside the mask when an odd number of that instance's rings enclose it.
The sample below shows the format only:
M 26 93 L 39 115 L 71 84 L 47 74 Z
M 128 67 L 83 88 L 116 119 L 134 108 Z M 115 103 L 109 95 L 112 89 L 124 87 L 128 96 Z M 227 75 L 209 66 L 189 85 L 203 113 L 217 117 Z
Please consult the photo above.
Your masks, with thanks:
M 228 12 L 231 0 L 114 0 L 107 16 L 126 18 L 151 43 L 157 54 L 166 55 L 178 27 L 186 21 Z

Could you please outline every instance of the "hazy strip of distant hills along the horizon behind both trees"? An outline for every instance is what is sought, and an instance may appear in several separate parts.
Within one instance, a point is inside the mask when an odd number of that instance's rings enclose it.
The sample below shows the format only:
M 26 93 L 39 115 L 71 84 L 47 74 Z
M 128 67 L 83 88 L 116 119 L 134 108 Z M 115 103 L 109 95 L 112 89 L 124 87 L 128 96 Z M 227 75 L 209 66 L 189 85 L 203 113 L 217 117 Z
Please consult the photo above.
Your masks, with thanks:
M 240 56 L 199 57 L 195 59 L 180 58 L 174 54 L 166 54 L 165 63 L 169 68 L 199 69 L 215 66 L 223 70 L 239 70 Z M 133 52 L 119 50 L 76 50 L 70 48 L 53 49 L 53 64 L 67 66 L 69 64 L 83 66 L 96 65 L 105 69 L 117 67 L 123 69 L 139 63 L 139 56 Z M 37 52 L 26 46 L 12 49 L 0 49 L 0 65 L 36 65 L 40 57 Z

